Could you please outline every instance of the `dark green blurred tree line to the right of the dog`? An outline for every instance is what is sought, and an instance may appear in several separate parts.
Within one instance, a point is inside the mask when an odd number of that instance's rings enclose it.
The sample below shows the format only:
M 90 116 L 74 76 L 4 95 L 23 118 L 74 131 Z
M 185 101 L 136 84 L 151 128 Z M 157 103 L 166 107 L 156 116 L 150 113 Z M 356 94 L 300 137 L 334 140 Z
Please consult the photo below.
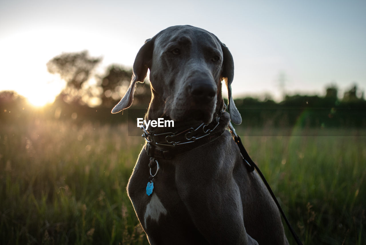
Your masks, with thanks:
M 285 95 L 280 103 L 270 98 L 236 99 L 242 115 L 242 125 L 247 127 L 366 127 L 366 101 L 357 96 L 357 85 L 339 99 L 338 88 L 332 84 L 324 97 L 318 95 Z

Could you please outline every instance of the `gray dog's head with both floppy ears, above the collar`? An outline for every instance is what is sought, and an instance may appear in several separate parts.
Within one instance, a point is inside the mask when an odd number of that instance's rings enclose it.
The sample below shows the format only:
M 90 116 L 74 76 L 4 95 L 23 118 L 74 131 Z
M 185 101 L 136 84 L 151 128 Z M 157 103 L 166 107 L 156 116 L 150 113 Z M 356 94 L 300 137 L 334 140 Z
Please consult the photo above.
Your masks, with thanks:
M 136 82 L 150 69 L 152 102 L 174 121 L 193 118 L 208 123 L 223 107 L 221 81 L 228 90 L 228 110 L 235 124 L 242 118 L 231 95 L 234 61 L 212 33 L 193 26 L 172 26 L 148 39 L 137 53 L 126 94 L 112 113 L 131 106 Z

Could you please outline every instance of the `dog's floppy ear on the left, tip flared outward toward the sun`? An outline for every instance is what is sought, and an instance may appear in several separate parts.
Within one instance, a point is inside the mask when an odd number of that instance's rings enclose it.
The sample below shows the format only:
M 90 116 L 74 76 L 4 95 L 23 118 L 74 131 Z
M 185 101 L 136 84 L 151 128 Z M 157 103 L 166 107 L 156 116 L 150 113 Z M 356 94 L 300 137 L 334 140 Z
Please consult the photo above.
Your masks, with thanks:
M 136 88 L 136 82 L 143 83 L 146 75 L 147 68 L 149 68 L 152 56 L 153 56 L 154 41 L 153 39 L 147 39 L 145 44 L 141 47 L 135 58 L 133 66 L 133 74 L 130 86 L 127 89 L 126 94 L 118 102 L 118 104 L 112 109 L 112 113 L 118 113 L 124 109 L 129 108 L 132 105 L 134 99 L 134 93 Z

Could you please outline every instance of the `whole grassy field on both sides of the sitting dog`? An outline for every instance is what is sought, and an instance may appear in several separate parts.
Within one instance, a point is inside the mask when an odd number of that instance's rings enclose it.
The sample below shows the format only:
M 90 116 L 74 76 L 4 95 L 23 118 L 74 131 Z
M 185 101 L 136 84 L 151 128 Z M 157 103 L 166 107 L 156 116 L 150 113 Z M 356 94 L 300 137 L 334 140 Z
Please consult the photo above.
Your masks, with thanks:
M 237 131 L 304 244 L 365 244 L 365 131 Z M 142 144 L 126 125 L 1 124 L 0 244 L 148 244 L 126 194 Z

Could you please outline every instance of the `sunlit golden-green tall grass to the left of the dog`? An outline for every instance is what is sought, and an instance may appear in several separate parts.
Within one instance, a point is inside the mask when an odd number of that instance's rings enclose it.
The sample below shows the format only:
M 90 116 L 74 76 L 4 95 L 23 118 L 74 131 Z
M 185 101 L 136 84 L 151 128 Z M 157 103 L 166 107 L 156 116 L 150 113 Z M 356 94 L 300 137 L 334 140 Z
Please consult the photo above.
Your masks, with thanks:
M 147 244 L 126 195 L 125 126 L 1 125 L 0 244 Z

